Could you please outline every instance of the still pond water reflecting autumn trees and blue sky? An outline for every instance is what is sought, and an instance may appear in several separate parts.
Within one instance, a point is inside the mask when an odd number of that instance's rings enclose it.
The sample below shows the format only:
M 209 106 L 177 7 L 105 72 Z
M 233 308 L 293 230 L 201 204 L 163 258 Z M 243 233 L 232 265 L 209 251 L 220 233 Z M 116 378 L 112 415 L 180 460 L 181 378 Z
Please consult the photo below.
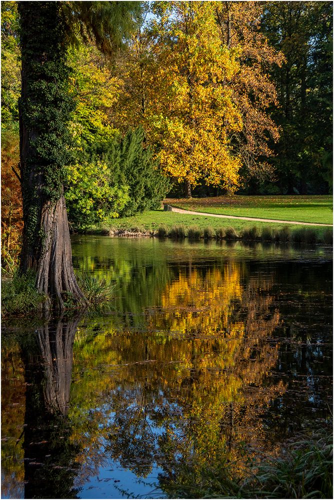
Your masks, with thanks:
M 331 248 L 76 236 L 110 310 L 2 325 L 2 498 L 164 498 L 330 415 Z M 191 473 L 189 473 L 191 469 Z

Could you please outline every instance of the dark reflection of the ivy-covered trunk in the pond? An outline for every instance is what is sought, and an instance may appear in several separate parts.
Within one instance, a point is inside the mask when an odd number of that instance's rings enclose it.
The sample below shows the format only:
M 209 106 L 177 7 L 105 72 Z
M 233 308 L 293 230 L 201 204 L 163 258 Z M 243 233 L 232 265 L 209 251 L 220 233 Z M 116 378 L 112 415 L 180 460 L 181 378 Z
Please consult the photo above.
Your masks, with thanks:
M 24 497 L 76 498 L 78 448 L 67 417 L 73 339 L 80 317 L 48 321 L 22 350 L 25 367 Z

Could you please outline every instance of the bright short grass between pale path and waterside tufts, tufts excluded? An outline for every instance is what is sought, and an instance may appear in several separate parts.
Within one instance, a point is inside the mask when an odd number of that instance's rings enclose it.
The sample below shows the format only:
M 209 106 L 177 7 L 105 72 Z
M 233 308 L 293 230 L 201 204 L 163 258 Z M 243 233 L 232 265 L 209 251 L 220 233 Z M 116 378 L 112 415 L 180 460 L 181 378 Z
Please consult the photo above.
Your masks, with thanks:
M 138 230 L 149 230 L 157 231 L 159 226 L 166 226 L 171 228 L 176 225 L 184 225 L 185 228 L 190 228 L 193 226 L 200 227 L 202 229 L 206 227 L 212 227 L 214 230 L 220 227 L 233 227 L 236 232 L 240 232 L 244 228 L 257 226 L 259 229 L 262 227 L 272 227 L 274 229 L 280 229 L 285 226 L 285 224 L 275 223 L 275 222 L 256 222 L 251 220 L 237 220 L 237 219 L 222 219 L 215 218 L 205 215 L 191 215 L 186 213 L 176 213 L 160 210 L 148 210 L 132 217 L 121 217 L 114 219 L 112 222 L 112 229 L 136 229 Z M 300 229 L 301 226 L 295 224 L 289 224 L 290 230 Z M 304 226 L 307 227 L 307 226 Z M 312 227 L 317 234 L 322 234 L 326 227 L 314 226 Z

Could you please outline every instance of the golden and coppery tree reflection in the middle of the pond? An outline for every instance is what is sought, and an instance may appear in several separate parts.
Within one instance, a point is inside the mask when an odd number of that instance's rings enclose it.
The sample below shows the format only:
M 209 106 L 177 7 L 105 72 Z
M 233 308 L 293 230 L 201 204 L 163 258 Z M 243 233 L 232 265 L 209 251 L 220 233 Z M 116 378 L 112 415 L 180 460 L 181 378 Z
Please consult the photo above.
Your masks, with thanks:
M 278 358 L 267 338 L 279 314 L 268 293 L 273 275 L 242 283 L 240 272 L 234 262 L 180 270 L 146 315 L 148 330 L 161 333 L 117 337 L 126 369 L 112 391 L 109 449 L 136 474 L 155 461 L 168 482 L 184 463 L 199 473 L 240 459 L 245 442 L 265 447 L 261 415 L 284 392 L 281 381 L 263 386 Z

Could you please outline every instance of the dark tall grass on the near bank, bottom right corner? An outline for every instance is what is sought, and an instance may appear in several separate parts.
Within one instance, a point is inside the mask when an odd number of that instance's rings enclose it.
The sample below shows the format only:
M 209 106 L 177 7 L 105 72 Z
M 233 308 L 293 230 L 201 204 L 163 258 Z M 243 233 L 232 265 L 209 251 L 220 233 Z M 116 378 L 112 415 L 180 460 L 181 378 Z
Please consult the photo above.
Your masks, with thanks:
M 330 424 L 299 435 L 278 457 L 247 458 L 245 448 L 240 461 L 221 456 L 198 468 L 193 456 L 160 486 L 173 498 L 332 498 L 332 451 Z

